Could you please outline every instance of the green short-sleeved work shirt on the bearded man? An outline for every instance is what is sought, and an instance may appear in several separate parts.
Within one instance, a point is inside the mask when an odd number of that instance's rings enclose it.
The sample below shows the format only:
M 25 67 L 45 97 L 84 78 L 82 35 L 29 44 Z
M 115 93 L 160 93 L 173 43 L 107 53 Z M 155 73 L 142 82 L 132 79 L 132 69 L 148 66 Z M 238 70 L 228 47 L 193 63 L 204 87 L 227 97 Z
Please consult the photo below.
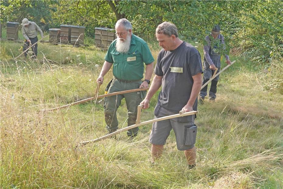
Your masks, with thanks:
M 116 50 L 115 39 L 104 57 L 109 63 L 113 63 L 113 75 L 115 78 L 136 81 L 143 78 L 144 64 L 151 64 L 154 58 L 146 42 L 132 34 L 131 45 L 128 53 L 120 53 Z

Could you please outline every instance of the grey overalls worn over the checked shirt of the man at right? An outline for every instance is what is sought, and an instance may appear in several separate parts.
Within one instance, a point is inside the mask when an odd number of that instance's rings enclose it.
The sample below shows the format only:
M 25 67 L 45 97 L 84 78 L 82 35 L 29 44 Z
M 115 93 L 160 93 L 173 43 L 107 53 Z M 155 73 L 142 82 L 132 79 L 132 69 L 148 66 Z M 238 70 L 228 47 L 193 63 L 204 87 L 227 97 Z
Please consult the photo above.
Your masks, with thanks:
M 221 44 L 221 40 L 219 41 L 219 46 L 220 46 L 220 44 Z M 213 49 L 211 48 L 211 46 L 209 48 L 209 56 L 210 56 L 213 64 L 215 65 L 215 67 L 218 68 L 218 71 L 216 73 L 218 73 L 220 71 L 220 66 L 221 66 L 221 64 L 220 64 L 220 54 L 215 52 L 215 51 L 217 51 L 217 49 L 218 49 L 217 45 L 215 45 Z M 214 70 L 211 70 L 209 68 L 209 64 L 206 61 L 205 57 L 204 57 L 203 66 L 204 66 L 204 71 L 203 71 L 203 83 L 202 83 L 202 85 L 204 85 L 204 83 L 208 82 L 208 80 L 214 74 Z M 218 79 L 219 79 L 219 75 L 211 81 L 211 86 L 210 86 L 210 90 L 209 90 L 209 97 L 211 99 L 216 98 Z M 202 98 L 204 98 L 204 96 L 207 95 L 207 86 L 208 85 L 206 85 L 203 89 L 201 89 L 200 96 Z

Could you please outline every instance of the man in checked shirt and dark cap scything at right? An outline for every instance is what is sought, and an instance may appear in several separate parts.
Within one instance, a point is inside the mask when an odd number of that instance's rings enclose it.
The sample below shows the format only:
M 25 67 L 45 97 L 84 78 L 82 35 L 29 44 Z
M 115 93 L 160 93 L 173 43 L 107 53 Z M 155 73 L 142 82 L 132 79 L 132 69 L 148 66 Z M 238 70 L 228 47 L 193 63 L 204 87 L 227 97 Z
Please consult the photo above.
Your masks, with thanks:
M 203 85 L 208 82 L 211 76 L 214 74 L 215 68 L 220 71 L 220 52 L 225 49 L 224 37 L 220 34 L 220 26 L 215 25 L 211 30 L 211 34 L 205 37 L 206 43 L 203 47 L 204 51 L 204 71 L 203 71 Z M 225 54 L 226 64 L 231 64 L 229 56 Z M 215 100 L 217 82 L 219 75 L 211 81 L 211 87 L 209 90 L 209 100 Z M 206 85 L 200 92 L 200 104 L 203 104 L 204 97 L 207 95 Z

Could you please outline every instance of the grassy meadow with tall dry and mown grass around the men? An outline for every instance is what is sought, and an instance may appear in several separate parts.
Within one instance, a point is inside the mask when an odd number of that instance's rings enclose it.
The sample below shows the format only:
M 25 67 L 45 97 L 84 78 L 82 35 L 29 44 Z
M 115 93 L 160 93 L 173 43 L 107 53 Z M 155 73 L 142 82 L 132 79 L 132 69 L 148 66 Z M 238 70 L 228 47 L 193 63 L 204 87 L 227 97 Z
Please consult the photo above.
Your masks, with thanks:
M 230 55 L 236 63 L 220 75 L 215 102 L 198 106 L 197 166 L 188 169 L 173 131 L 151 165 L 151 124 L 134 139 L 124 132 L 79 146 L 106 134 L 101 99 L 40 111 L 94 96 L 105 52 L 86 43 L 39 43 L 37 60 L 14 60 L 23 43 L 1 41 L 0 188 L 283 188 L 282 59 L 267 68 Z M 160 48 L 149 46 L 156 60 Z M 110 70 L 99 94 L 112 77 Z M 154 117 L 157 96 L 141 121 Z M 126 114 L 123 100 L 119 128 Z

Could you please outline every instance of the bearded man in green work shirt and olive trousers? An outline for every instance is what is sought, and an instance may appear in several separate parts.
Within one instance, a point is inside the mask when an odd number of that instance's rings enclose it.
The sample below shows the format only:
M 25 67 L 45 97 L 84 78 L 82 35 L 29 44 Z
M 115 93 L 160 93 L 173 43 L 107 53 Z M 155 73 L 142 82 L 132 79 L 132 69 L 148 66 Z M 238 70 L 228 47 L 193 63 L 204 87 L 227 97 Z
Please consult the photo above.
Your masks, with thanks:
M 108 93 L 148 87 L 153 73 L 153 56 L 146 42 L 132 34 L 132 25 L 127 19 L 120 19 L 115 24 L 117 39 L 115 39 L 104 57 L 104 64 L 97 78 L 103 83 L 103 76 L 113 65 L 113 79 L 107 86 Z M 145 69 L 145 79 L 142 81 Z M 125 93 L 105 97 L 104 114 L 106 128 L 109 133 L 118 129 L 116 111 L 125 98 L 128 109 L 128 126 L 134 125 L 137 119 L 137 106 L 145 98 L 145 91 Z M 127 131 L 129 137 L 138 134 L 138 127 Z

